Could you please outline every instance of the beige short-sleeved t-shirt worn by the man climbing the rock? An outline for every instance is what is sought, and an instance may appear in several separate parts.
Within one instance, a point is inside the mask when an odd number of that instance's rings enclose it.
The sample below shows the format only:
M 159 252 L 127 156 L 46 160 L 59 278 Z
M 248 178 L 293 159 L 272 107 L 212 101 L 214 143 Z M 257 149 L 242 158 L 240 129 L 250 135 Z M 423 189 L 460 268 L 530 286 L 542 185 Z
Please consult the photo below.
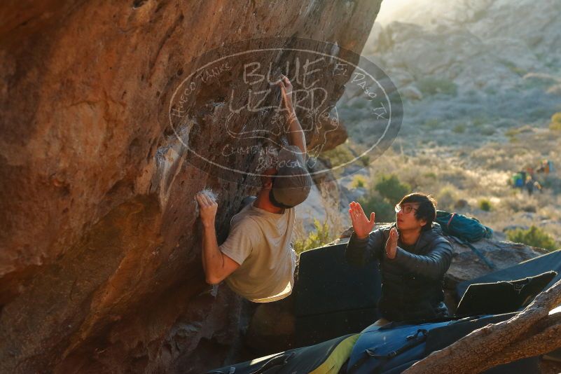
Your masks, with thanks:
M 289 296 L 296 267 L 293 227 L 293 208 L 276 214 L 251 203 L 233 216 L 228 239 L 220 246 L 223 254 L 240 264 L 226 278 L 230 289 L 255 303 Z

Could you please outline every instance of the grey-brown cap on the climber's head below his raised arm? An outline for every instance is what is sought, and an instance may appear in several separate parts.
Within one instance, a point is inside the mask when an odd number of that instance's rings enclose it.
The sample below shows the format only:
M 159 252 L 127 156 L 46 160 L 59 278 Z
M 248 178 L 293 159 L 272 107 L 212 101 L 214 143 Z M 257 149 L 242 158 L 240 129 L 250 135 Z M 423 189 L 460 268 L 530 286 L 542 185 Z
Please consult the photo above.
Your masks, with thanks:
M 296 207 L 306 200 L 310 188 L 312 178 L 307 172 L 300 148 L 282 148 L 277 158 L 277 175 L 269 195 L 272 204 L 282 208 Z

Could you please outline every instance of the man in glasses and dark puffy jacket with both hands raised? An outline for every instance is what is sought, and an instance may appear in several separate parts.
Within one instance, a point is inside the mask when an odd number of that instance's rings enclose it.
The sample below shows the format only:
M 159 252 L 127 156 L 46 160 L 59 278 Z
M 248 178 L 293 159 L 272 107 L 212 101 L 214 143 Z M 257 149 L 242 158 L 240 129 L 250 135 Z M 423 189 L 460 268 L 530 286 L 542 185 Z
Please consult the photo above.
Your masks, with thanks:
M 433 223 L 436 202 L 420 193 L 406 195 L 396 205 L 396 223 L 374 231 L 374 213 L 368 219 L 357 202 L 349 208 L 354 233 L 347 244 L 347 261 L 355 265 L 378 261 L 382 275 L 376 324 L 448 316 L 443 278 L 452 261 L 452 246 Z

